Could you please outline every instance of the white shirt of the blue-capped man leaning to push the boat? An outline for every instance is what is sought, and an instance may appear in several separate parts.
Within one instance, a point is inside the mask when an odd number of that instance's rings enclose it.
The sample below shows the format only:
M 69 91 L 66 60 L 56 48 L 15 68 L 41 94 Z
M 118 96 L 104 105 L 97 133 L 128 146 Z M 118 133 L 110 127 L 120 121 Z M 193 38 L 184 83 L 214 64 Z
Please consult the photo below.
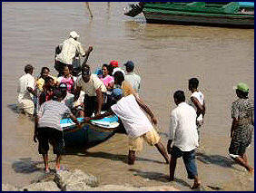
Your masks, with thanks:
M 153 130 L 153 125 L 141 110 L 133 94 L 123 97 L 111 107 L 121 119 L 128 136 L 139 137 Z

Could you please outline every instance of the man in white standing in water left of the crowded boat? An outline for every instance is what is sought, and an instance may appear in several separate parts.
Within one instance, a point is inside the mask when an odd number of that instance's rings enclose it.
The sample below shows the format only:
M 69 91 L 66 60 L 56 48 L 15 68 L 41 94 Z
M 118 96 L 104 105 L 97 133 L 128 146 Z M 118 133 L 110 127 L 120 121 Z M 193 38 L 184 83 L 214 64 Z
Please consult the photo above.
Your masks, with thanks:
M 19 112 L 25 112 L 25 115 L 34 114 L 34 77 L 32 76 L 34 67 L 30 64 L 25 65 L 25 75 L 19 78 L 18 82 L 18 101 Z

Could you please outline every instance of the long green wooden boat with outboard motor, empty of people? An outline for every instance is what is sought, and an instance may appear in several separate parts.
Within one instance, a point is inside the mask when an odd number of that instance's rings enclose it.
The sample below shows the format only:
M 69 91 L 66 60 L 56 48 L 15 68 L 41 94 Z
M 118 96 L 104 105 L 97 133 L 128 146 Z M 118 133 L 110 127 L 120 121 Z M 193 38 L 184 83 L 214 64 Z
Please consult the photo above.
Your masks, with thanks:
M 143 12 L 147 23 L 254 28 L 253 2 L 143 2 L 125 13 Z

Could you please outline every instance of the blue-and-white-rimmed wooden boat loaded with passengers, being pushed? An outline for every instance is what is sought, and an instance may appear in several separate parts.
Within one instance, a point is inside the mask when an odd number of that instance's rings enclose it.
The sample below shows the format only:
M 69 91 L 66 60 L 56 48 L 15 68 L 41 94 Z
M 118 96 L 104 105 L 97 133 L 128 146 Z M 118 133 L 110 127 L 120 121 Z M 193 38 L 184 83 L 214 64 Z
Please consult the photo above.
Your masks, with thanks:
M 84 118 L 78 118 L 84 121 Z M 106 117 L 103 120 L 83 123 L 82 129 L 78 129 L 71 119 L 61 121 L 64 130 L 64 145 L 66 148 L 91 148 L 113 136 L 119 128 L 116 116 Z

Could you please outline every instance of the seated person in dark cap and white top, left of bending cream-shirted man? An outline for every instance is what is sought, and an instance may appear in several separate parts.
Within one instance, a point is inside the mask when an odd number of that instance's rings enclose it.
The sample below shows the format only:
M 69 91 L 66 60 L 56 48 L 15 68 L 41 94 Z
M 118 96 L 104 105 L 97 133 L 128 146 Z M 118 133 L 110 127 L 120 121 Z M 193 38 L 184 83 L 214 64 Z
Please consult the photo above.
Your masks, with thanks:
M 64 82 L 60 83 L 59 90 L 63 93 L 63 100 L 61 102 L 64 103 L 73 112 L 75 117 L 84 117 L 83 103 L 74 106 L 74 94 L 68 92 L 67 84 Z

